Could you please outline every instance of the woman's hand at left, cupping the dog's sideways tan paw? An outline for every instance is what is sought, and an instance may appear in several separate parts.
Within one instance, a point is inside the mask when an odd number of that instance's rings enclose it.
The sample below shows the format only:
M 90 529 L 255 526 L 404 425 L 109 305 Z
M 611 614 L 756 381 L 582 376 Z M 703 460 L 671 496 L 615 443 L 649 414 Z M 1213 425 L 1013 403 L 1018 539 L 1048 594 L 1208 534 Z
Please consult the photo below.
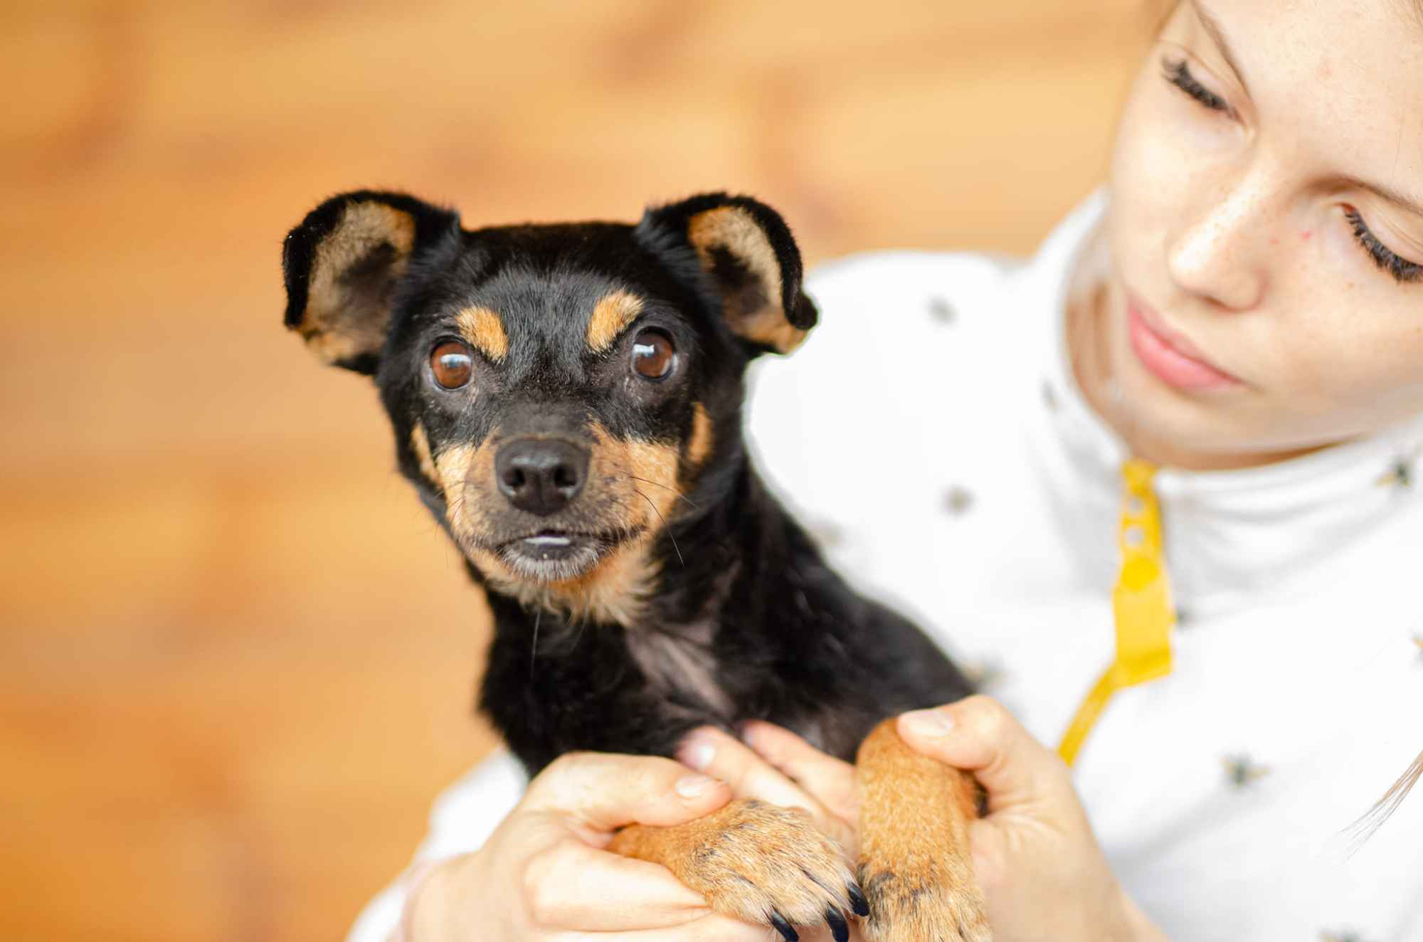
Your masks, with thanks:
M 682 824 L 731 798 L 667 758 L 575 753 L 539 773 L 485 845 L 414 888 L 411 942 L 764 942 L 665 868 L 602 848 L 625 824 Z

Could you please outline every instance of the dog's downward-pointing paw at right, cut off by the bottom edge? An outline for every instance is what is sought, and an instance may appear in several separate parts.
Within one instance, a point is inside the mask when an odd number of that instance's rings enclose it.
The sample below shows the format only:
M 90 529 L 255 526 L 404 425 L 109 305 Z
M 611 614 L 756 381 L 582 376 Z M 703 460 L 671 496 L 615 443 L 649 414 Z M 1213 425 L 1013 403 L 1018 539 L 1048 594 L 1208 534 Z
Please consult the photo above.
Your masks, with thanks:
M 861 862 L 859 885 L 869 901 L 865 938 L 872 942 L 992 942 L 978 885 L 936 861 L 898 871 Z

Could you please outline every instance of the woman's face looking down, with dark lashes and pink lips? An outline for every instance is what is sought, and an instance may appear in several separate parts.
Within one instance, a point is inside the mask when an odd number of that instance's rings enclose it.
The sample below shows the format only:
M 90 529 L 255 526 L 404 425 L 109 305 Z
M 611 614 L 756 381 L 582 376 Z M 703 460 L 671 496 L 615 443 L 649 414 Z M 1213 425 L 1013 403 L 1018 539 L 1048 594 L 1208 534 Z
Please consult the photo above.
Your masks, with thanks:
M 1423 411 L 1414 0 L 1183 0 L 1104 235 L 1094 346 L 1128 440 L 1229 467 Z

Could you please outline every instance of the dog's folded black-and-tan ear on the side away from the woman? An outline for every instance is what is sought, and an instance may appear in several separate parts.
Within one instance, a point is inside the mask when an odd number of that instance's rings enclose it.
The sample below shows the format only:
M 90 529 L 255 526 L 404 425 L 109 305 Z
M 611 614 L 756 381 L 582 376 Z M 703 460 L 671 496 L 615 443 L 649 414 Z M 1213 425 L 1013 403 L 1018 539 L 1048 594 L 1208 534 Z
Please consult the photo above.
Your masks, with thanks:
M 460 216 L 404 194 L 342 194 L 282 245 L 286 326 L 324 363 L 374 373 L 410 260 L 460 232 Z

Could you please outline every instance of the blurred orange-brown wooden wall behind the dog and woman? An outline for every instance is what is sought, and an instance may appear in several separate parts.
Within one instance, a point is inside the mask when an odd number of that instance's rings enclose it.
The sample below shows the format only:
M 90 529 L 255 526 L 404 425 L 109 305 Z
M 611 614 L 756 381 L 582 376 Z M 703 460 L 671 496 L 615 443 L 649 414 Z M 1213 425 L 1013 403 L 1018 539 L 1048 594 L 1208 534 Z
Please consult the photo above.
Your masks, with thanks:
M 370 384 L 280 327 L 317 199 L 730 188 L 811 260 L 1022 252 L 1100 178 L 1143 6 L 6 4 L 7 938 L 340 938 L 492 744 L 482 599 Z

